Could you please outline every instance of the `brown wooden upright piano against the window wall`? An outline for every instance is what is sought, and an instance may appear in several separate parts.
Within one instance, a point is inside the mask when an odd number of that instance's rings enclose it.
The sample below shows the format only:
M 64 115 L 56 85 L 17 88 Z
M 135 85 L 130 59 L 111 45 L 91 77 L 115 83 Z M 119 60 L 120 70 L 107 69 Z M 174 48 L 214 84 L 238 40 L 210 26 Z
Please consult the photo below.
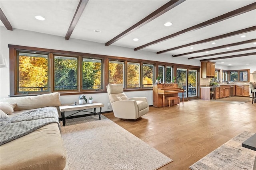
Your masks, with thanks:
M 168 106 L 168 101 L 165 97 L 178 96 L 178 93 L 182 93 L 182 105 L 184 102 L 184 89 L 179 88 L 177 83 L 170 84 L 153 84 L 153 106 L 163 107 Z M 175 101 L 174 104 L 178 102 Z

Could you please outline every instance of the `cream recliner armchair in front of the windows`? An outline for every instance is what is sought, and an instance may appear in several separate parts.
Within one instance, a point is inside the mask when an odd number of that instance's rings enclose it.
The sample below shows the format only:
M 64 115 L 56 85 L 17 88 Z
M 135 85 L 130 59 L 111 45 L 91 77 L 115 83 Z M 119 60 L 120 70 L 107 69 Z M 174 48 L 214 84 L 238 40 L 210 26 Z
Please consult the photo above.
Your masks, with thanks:
M 115 117 L 124 120 L 136 120 L 148 113 L 147 98 L 127 98 L 122 84 L 108 84 L 107 92 Z

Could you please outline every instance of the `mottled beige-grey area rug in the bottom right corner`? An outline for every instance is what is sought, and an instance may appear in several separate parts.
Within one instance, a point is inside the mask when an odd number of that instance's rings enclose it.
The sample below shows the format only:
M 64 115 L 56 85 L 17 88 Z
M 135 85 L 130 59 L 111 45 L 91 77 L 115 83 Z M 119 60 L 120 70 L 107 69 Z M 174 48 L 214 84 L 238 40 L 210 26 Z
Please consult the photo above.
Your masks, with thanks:
M 254 135 L 244 131 L 220 146 L 189 168 L 192 170 L 252 170 L 256 152 L 242 147 Z

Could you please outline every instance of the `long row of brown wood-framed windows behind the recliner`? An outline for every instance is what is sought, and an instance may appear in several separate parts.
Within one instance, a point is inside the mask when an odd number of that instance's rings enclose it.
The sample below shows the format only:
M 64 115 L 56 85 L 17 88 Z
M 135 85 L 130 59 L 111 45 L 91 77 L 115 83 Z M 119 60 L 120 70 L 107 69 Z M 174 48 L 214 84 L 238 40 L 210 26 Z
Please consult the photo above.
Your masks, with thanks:
M 152 90 L 160 72 L 169 82 L 174 66 L 186 66 L 19 45 L 9 45 L 9 54 L 10 96 L 102 93 L 112 83 L 123 84 L 124 91 Z

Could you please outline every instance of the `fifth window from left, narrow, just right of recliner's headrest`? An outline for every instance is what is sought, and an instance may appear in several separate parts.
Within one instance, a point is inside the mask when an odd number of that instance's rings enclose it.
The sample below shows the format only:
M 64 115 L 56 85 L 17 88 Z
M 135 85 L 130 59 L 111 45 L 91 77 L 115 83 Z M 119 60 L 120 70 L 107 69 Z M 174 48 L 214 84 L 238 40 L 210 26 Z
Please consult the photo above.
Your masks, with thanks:
M 140 87 L 140 63 L 127 63 L 127 88 Z

